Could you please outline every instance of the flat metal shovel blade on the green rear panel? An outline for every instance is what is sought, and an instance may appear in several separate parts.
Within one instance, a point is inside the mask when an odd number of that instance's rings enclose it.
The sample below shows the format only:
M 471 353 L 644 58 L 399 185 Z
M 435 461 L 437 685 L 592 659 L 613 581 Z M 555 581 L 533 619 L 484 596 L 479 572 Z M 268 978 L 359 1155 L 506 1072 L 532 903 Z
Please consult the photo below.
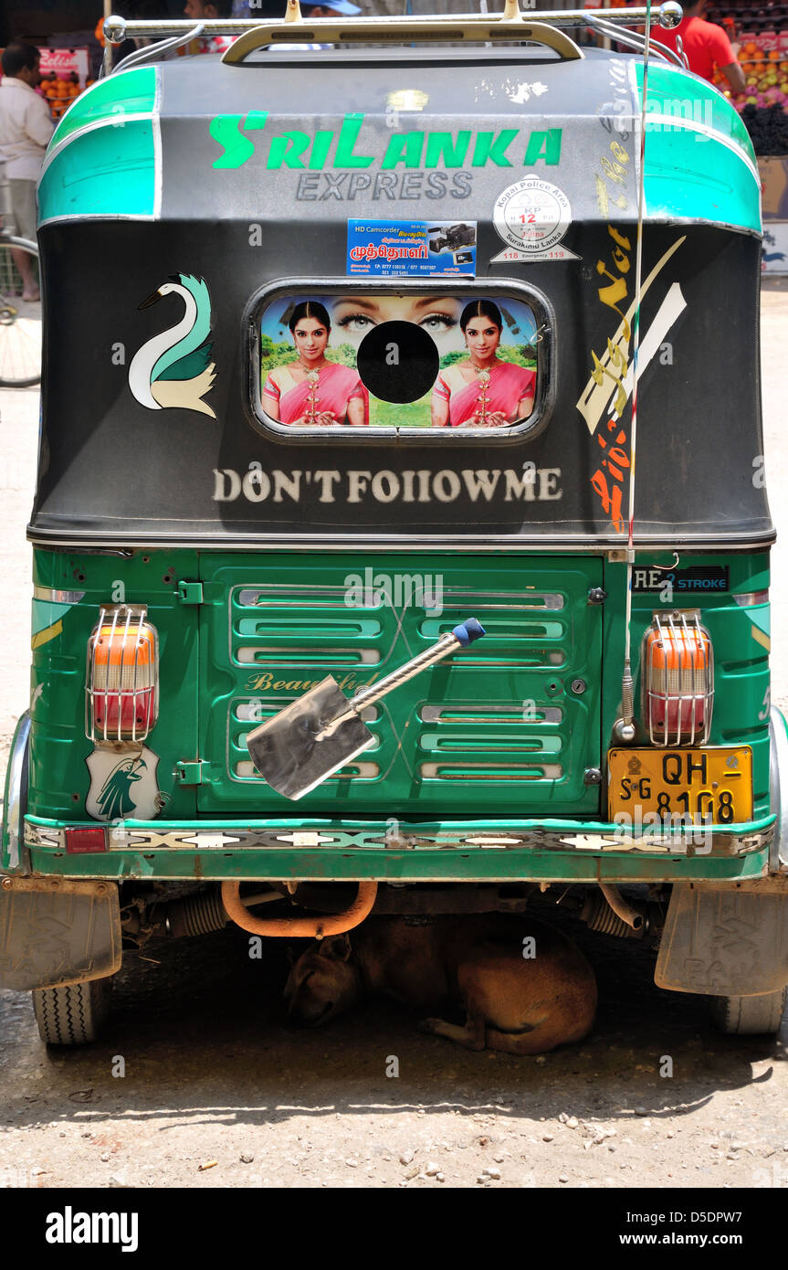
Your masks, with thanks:
M 330 729 L 343 715 L 348 718 Z M 258 771 L 277 794 L 293 801 L 373 744 L 373 734 L 358 715 L 349 714 L 348 698 L 331 674 L 247 738 Z

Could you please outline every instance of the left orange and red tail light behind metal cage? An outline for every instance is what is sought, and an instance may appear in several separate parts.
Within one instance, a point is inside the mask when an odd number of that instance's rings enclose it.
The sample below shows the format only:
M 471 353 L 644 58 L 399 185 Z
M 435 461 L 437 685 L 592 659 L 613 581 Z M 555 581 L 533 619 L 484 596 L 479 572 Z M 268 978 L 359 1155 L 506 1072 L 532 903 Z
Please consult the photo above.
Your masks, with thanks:
M 159 716 L 159 636 L 145 605 L 102 608 L 88 644 L 85 732 L 145 740 Z

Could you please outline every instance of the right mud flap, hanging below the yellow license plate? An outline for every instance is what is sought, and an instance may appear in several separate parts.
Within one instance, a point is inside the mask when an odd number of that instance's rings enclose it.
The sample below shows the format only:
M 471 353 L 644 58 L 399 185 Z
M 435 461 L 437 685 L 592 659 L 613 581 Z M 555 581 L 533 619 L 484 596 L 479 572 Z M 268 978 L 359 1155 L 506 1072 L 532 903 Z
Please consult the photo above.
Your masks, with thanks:
M 758 881 L 675 884 L 653 982 L 712 997 L 778 992 L 788 983 L 788 893 Z

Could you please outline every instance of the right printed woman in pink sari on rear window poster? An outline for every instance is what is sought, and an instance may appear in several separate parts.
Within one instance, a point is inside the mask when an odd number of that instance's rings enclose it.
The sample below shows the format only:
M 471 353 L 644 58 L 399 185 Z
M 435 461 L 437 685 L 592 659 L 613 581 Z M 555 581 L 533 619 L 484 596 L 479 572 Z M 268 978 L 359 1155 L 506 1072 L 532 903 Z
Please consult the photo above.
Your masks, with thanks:
M 433 428 L 500 428 L 533 410 L 535 371 L 500 362 L 504 323 L 491 300 L 466 305 L 459 319 L 468 359 L 440 371 L 431 401 Z

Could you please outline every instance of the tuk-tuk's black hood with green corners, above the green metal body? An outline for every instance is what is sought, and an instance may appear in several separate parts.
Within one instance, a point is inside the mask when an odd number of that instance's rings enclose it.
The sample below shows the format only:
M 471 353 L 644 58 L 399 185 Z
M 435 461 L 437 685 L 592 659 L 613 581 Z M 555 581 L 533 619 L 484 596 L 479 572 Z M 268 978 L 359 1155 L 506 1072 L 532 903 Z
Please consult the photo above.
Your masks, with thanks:
M 647 99 L 636 541 L 764 545 L 758 170 L 709 84 L 655 58 Z M 39 185 L 34 541 L 621 545 L 641 107 L 640 58 L 522 47 L 200 55 L 96 84 Z M 522 187 L 557 208 L 530 257 L 506 249 Z M 420 221 L 428 240 L 471 230 L 473 259 L 429 277 L 410 260 L 354 268 L 351 234 L 379 217 L 395 234 Z M 450 296 L 457 337 L 470 298 L 530 305 L 529 340 L 510 343 L 537 367 L 533 425 L 272 422 L 263 382 L 272 349 L 292 361 L 287 312 L 357 282 Z

